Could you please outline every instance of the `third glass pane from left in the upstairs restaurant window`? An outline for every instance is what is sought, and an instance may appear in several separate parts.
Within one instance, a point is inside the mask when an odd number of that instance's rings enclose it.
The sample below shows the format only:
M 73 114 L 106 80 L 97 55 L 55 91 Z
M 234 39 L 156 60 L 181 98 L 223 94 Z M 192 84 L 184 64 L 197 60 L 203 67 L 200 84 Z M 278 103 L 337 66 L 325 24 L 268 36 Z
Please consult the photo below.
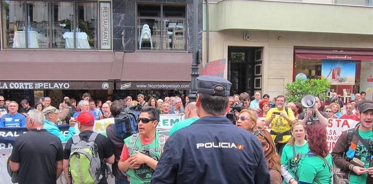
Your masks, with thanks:
M 73 2 L 52 2 L 52 47 L 74 48 Z

